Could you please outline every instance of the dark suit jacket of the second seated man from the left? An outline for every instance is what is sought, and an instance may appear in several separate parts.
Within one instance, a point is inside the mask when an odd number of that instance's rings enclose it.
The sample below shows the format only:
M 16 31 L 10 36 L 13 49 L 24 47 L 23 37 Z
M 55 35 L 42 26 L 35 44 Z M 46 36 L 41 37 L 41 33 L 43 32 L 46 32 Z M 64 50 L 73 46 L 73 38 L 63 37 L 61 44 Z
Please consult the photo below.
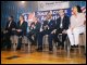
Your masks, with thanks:
M 22 29 L 21 32 L 17 32 L 18 36 L 25 36 L 27 32 L 27 22 L 23 22 L 23 24 L 20 26 L 21 22 L 17 22 L 17 29 Z

